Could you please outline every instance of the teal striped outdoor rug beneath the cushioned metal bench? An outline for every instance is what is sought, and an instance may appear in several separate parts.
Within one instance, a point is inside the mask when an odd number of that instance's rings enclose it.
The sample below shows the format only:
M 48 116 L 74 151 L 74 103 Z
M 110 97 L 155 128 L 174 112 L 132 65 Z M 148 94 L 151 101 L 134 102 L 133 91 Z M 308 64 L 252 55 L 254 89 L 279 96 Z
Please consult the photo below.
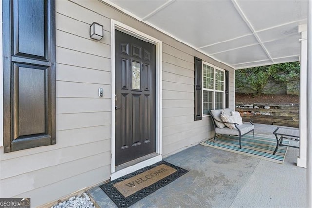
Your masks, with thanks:
M 242 148 L 239 148 L 239 137 L 230 135 L 218 135 L 215 138 L 200 143 L 204 146 L 210 146 L 225 151 L 234 152 L 237 154 L 249 155 L 252 157 L 269 160 L 272 162 L 283 164 L 287 152 L 286 146 L 279 146 L 275 155 L 273 152 L 276 148 L 276 138 L 274 135 L 247 134 L 242 137 Z M 283 141 L 283 144 L 288 145 L 289 141 Z

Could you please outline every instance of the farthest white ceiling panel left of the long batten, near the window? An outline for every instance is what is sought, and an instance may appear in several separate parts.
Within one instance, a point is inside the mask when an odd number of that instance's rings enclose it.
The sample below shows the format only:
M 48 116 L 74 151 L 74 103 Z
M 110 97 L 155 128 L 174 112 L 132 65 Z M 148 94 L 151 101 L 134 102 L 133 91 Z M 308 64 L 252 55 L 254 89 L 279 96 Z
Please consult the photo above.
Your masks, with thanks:
M 267 55 L 259 45 L 253 45 L 249 47 L 239 48 L 224 53 L 218 53 L 212 55 L 217 60 L 226 60 L 228 64 L 235 65 L 239 63 L 255 62 L 258 60 L 268 59 Z

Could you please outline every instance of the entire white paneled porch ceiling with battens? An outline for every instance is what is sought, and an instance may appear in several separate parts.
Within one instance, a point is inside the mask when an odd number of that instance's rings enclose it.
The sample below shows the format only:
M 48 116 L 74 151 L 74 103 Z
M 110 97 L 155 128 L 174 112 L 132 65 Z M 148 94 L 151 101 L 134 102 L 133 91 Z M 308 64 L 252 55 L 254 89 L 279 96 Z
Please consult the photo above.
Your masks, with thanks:
M 299 60 L 307 0 L 103 0 L 235 69 Z

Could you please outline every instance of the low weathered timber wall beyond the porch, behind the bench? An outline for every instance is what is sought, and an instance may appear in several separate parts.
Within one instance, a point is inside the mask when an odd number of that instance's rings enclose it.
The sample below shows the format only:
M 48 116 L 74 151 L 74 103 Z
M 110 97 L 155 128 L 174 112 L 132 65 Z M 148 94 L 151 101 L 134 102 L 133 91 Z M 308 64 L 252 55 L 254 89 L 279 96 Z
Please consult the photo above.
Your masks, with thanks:
M 299 127 L 299 104 L 261 104 L 236 106 L 243 121 Z

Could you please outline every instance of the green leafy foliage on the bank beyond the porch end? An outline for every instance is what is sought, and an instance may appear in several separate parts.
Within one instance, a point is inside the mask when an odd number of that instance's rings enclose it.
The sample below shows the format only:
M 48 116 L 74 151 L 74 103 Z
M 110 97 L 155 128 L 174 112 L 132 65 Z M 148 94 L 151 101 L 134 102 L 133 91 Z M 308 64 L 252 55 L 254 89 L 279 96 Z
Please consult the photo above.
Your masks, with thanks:
M 270 66 L 239 69 L 235 71 L 235 87 L 237 90 L 260 95 L 269 81 L 286 85 L 300 78 L 300 62 L 280 63 Z

